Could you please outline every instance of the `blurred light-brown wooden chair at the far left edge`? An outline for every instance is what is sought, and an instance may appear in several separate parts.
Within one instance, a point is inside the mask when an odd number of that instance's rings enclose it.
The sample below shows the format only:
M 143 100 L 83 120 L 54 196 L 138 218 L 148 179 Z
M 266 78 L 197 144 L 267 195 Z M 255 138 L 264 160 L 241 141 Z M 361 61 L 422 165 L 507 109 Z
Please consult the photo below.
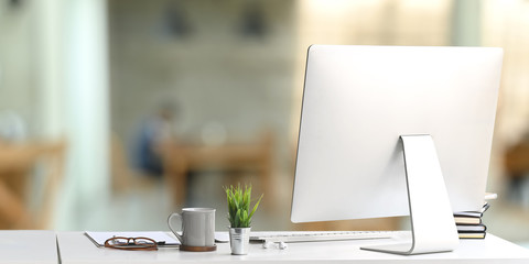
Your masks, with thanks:
M 0 229 L 47 229 L 65 143 L 0 142 Z

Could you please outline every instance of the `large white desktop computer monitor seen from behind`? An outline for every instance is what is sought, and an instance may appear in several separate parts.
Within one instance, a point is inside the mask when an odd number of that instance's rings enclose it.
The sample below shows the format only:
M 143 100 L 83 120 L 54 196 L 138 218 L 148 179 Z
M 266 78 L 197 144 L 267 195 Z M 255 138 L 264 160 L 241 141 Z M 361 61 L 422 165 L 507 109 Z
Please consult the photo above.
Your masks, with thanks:
M 312 45 L 291 220 L 411 215 L 404 254 L 425 253 L 419 232 L 441 218 L 456 232 L 452 211 L 484 202 L 501 61 L 495 47 Z

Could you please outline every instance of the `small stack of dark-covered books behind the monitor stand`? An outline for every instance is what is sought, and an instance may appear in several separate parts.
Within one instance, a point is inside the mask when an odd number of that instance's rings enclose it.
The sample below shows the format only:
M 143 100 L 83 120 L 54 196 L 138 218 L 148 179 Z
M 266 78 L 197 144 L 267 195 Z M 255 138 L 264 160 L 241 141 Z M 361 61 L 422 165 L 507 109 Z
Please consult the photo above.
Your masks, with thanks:
M 481 211 L 455 212 L 454 219 L 460 239 L 485 239 L 487 227 L 483 223 L 483 213 L 490 207 L 483 205 Z

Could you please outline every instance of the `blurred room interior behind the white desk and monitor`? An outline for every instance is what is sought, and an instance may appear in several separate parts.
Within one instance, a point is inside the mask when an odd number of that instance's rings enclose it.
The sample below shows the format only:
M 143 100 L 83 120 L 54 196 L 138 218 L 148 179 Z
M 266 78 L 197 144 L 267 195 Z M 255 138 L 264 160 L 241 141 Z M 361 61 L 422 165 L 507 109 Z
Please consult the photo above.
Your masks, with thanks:
M 0 0 L 0 229 L 168 230 L 223 186 L 293 224 L 310 44 L 505 48 L 484 221 L 529 246 L 527 0 Z

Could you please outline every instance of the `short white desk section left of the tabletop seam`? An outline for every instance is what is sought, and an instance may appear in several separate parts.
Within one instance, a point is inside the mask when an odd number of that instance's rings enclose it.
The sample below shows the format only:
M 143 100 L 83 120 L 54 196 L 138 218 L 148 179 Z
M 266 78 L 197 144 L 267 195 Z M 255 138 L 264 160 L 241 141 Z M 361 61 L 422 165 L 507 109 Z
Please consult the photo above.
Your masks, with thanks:
M 0 263 L 57 264 L 54 231 L 0 231 Z

